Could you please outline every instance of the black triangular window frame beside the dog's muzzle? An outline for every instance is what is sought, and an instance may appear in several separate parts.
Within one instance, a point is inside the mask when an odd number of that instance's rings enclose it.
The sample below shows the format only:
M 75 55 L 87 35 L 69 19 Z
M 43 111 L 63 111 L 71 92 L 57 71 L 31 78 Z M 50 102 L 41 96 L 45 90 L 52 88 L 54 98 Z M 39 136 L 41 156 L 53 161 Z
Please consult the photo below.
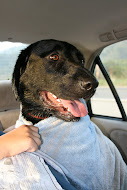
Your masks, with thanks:
M 121 118 L 118 118 L 118 117 L 111 117 L 111 116 L 105 116 L 105 115 L 98 115 L 98 114 L 94 114 L 93 111 L 92 111 L 92 106 L 91 106 L 91 100 L 88 100 L 87 101 L 87 106 L 88 106 L 88 111 L 89 111 L 89 115 L 90 117 L 101 117 L 101 118 L 107 118 L 107 119 L 115 119 L 115 120 L 122 120 L 122 121 L 127 121 L 127 115 L 126 115 L 126 112 L 124 110 L 124 107 L 123 107 L 123 104 L 120 100 L 120 97 L 116 91 L 116 88 L 108 74 L 108 72 L 106 71 L 101 59 L 99 56 L 97 56 L 93 62 L 93 65 L 91 67 L 91 72 L 94 73 L 94 70 L 95 70 L 95 67 L 96 65 L 98 65 L 98 67 L 100 68 L 105 80 L 107 81 L 107 84 L 109 85 L 109 88 L 113 94 L 113 97 L 117 103 L 117 106 L 118 106 L 118 109 L 121 113 Z

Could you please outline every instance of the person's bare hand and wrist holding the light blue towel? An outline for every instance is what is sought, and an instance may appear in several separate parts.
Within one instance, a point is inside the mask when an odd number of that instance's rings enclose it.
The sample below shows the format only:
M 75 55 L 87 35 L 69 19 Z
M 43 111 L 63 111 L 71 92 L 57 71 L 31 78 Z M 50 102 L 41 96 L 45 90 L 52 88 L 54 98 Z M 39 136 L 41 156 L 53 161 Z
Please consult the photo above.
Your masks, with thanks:
M 41 144 L 38 128 L 22 125 L 0 137 L 0 159 L 21 152 L 33 152 Z

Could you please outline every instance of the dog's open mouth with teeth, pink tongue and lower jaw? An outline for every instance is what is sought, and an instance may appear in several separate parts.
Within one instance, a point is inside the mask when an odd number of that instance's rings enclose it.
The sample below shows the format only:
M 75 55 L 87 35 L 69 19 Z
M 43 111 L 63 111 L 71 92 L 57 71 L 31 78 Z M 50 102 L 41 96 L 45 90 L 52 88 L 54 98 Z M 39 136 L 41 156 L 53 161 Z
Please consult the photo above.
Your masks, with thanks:
M 40 99 L 49 110 L 59 112 L 59 115 L 70 118 L 84 117 L 88 114 L 85 105 L 80 100 L 60 99 L 51 92 L 42 91 Z

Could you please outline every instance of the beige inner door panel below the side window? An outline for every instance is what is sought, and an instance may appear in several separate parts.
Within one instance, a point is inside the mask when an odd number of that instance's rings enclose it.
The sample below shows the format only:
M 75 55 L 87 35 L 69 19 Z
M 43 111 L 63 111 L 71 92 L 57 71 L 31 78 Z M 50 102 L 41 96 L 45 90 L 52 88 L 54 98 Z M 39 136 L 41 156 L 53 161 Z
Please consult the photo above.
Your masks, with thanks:
M 91 120 L 114 142 L 127 164 L 127 122 L 98 117 Z

